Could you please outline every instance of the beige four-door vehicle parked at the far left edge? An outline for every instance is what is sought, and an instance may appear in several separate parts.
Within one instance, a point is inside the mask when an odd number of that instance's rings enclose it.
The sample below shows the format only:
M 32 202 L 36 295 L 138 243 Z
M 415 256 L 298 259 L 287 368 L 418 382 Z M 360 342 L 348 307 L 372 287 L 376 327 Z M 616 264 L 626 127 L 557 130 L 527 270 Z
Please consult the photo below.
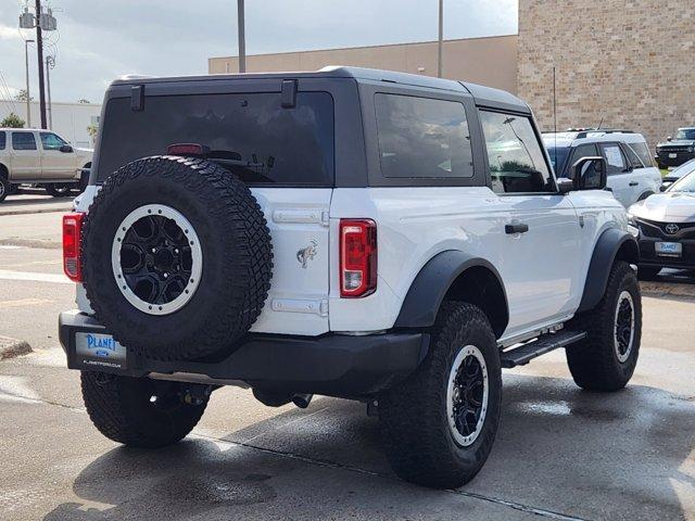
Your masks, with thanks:
M 55 198 L 83 191 L 91 155 L 51 130 L 0 128 L 0 202 L 25 183 L 41 185 Z

